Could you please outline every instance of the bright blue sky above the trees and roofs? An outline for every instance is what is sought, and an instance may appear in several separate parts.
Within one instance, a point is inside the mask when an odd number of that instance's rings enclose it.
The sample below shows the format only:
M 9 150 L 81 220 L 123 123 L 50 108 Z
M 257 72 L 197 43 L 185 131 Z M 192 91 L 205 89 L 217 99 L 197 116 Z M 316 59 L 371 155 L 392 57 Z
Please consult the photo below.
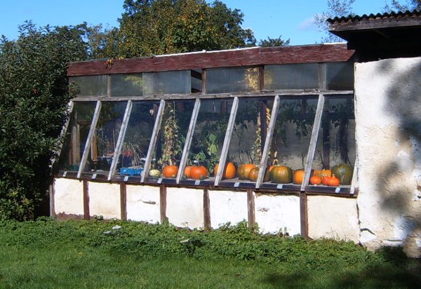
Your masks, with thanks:
M 0 0 L 0 35 L 18 38 L 18 26 L 31 20 L 36 27 L 102 24 L 118 27 L 124 0 Z M 207 2 L 212 2 L 209 0 Z M 323 33 L 314 25 L 313 16 L 327 9 L 327 0 L 222 0 L 243 14 L 244 29 L 252 29 L 255 38 L 290 39 L 290 45 L 320 43 Z M 382 13 L 391 0 L 356 0 L 357 15 Z M 405 3 L 405 1 L 401 1 Z

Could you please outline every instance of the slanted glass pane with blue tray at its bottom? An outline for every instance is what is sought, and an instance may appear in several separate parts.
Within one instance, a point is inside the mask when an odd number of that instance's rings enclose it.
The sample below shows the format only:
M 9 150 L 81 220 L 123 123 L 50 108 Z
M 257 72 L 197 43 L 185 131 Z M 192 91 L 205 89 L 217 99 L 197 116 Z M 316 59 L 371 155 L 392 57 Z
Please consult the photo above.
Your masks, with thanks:
M 120 175 L 142 173 L 158 108 L 157 101 L 133 102 L 116 173 Z

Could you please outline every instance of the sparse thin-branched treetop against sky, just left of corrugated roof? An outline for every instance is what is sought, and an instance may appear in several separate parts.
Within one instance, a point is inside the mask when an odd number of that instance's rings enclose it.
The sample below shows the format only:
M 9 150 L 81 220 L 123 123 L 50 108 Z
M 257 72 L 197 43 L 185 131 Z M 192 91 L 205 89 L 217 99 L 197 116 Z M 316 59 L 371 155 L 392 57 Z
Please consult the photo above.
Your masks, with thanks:
M 328 32 L 329 25 L 326 20 L 328 18 L 342 17 L 353 15 L 352 4 L 355 0 L 328 0 L 328 10 L 314 15 L 314 22 L 316 23 L 319 30 L 325 32 L 321 39 L 321 42 L 342 42 L 343 39 Z

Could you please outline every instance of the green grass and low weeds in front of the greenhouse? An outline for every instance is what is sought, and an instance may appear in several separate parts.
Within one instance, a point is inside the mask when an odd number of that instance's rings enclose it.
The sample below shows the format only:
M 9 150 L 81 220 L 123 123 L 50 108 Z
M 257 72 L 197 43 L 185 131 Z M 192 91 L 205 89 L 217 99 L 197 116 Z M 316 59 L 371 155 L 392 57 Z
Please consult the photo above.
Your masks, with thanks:
M 262 236 L 245 223 L 0 222 L 0 288 L 421 288 L 420 272 L 398 248 Z

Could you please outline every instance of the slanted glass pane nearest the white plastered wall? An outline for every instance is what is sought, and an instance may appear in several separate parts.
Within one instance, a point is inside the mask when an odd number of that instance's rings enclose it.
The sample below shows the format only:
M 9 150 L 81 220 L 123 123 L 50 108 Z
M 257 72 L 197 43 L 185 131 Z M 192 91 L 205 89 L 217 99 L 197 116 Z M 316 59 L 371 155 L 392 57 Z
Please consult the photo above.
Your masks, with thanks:
M 325 169 L 328 171 L 323 174 L 331 175 L 330 170 L 337 165 L 353 167 L 355 159 L 354 98 L 326 97 L 312 169 L 316 174 Z M 349 172 L 341 185 L 349 184 L 351 177 Z

